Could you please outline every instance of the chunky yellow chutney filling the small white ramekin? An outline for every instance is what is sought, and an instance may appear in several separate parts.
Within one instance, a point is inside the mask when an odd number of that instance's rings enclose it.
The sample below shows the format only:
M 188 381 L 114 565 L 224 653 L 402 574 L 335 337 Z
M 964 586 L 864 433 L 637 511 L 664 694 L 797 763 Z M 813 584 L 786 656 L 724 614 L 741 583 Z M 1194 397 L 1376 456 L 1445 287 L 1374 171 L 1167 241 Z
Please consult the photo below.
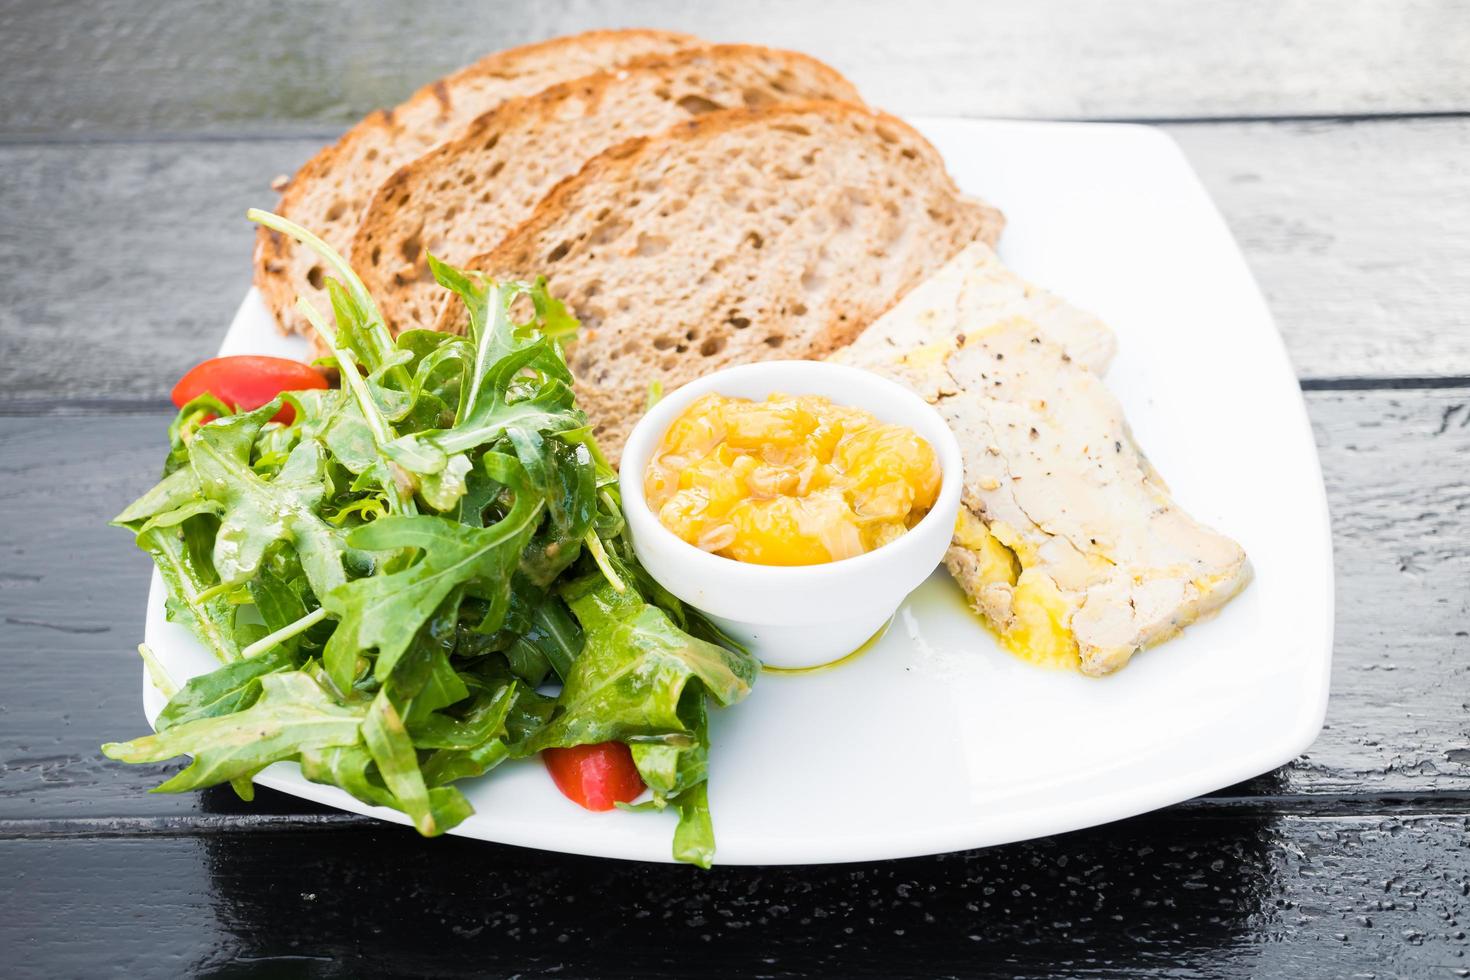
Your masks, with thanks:
M 913 527 L 939 494 L 939 457 L 906 426 L 817 395 L 704 395 L 644 473 L 659 522 L 753 564 L 822 564 Z

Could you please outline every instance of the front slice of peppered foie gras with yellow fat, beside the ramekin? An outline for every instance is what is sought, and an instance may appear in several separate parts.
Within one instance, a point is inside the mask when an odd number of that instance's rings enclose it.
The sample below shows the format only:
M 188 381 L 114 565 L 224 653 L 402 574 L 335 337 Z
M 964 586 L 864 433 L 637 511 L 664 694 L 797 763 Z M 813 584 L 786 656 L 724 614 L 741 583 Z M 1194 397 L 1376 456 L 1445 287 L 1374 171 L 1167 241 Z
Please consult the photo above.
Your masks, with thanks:
M 863 366 L 954 429 L 966 485 L 945 566 L 1022 657 L 1107 674 L 1250 582 L 1241 545 L 1169 497 L 1113 394 L 1032 320 Z

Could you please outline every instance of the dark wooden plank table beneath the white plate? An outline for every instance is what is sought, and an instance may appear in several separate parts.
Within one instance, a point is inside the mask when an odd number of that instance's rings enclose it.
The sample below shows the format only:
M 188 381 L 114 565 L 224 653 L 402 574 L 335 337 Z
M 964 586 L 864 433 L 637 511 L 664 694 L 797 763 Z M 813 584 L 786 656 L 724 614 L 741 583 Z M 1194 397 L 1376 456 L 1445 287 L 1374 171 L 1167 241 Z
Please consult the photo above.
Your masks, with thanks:
M 484 50 L 619 24 L 804 48 L 903 113 L 1183 145 L 1322 451 L 1338 644 L 1307 755 L 1029 843 L 711 873 L 154 796 L 175 767 L 100 757 L 143 724 L 147 589 L 104 522 L 245 288 L 244 207 Z M 1467 309 L 1455 0 L 0 3 L 0 976 L 1470 976 Z

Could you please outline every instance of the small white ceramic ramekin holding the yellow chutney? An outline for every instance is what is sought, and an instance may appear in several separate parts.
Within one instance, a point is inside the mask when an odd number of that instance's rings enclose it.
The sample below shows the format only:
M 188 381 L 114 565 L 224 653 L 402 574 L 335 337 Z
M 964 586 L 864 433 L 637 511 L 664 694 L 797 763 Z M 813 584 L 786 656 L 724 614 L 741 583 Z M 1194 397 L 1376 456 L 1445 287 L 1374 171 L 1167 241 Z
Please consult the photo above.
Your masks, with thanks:
M 644 473 L 664 430 L 709 392 L 763 400 L 822 395 L 904 425 L 939 455 L 939 498 L 907 533 L 867 554 L 813 566 L 747 564 L 713 555 L 659 523 L 644 500 Z M 960 445 L 923 398 L 878 375 L 825 361 L 729 367 L 673 391 L 645 414 L 623 447 L 619 489 L 634 551 L 666 589 L 706 613 L 772 667 L 814 667 L 861 646 L 944 558 L 963 485 Z

